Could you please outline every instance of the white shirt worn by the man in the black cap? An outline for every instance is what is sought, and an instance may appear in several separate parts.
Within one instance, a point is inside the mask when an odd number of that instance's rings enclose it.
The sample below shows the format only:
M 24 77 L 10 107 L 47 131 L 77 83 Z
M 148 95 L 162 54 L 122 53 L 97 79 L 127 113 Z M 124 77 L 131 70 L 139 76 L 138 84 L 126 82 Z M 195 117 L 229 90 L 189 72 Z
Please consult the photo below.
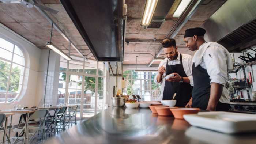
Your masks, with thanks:
M 210 45 L 204 52 L 203 61 L 199 65 L 207 70 L 211 79 L 210 84 L 214 82 L 227 86 L 227 56 L 221 47 Z M 223 87 L 219 101 L 221 103 L 230 103 L 229 92 L 226 87 Z

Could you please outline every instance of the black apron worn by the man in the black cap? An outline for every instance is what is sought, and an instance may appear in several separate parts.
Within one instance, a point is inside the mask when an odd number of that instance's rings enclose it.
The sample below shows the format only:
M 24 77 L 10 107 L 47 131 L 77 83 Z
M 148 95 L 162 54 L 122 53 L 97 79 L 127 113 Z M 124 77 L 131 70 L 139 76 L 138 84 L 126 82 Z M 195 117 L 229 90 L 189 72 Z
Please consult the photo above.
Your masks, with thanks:
M 192 107 L 205 110 L 207 109 L 211 94 L 210 76 L 208 75 L 207 70 L 200 65 L 195 67 L 195 63 L 192 65 L 192 75 L 194 81 Z M 218 102 L 216 111 L 228 111 L 229 107 L 230 105 L 228 103 Z

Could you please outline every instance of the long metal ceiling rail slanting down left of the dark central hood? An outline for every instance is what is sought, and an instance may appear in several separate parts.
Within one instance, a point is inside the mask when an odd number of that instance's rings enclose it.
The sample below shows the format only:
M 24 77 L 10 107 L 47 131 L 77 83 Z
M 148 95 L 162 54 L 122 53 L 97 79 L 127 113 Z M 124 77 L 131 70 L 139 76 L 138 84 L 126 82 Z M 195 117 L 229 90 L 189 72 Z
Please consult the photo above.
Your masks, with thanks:
M 33 2 L 35 4 L 38 4 L 37 1 L 33 0 Z M 44 11 L 41 10 L 41 8 L 35 6 L 35 8 L 50 22 L 53 23 L 53 26 L 55 27 L 55 29 L 68 41 L 71 43 L 71 46 L 73 46 L 73 48 L 85 59 L 86 57 L 82 54 L 82 52 L 80 52 L 80 50 L 75 46 L 75 44 L 68 38 L 68 36 L 63 32 L 63 30 L 60 29 L 60 27 L 52 20 L 52 18 L 50 18 L 50 16 Z

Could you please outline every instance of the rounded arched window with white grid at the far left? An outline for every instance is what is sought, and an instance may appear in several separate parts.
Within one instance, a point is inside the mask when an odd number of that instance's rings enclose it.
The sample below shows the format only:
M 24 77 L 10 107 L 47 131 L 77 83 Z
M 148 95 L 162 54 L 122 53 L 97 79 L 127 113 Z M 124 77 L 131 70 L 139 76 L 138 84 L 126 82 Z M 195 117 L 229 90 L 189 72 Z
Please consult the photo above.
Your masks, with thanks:
M 25 58 L 20 48 L 0 38 L 0 103 L 10 103 L 22 91 Z

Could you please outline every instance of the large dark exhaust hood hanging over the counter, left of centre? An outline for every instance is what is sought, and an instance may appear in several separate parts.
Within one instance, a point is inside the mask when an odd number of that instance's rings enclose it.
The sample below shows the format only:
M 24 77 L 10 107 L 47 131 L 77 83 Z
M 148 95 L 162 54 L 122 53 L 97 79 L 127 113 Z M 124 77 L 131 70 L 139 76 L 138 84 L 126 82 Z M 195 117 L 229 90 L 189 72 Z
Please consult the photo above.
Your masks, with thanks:
M 60 2 L 97 61 L 123 61 L 123 1 Z

